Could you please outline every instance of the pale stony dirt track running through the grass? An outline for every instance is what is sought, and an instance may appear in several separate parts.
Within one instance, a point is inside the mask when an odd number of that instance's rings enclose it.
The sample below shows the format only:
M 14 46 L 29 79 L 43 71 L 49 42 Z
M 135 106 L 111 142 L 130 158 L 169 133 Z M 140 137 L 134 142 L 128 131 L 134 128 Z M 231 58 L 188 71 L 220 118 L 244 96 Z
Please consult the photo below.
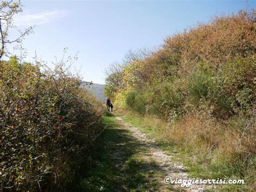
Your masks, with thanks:
M 160 191 L 170 191 L 170 190 L 184 190 L 184 191 L 205 191 L 214 190 L 215 186 L 209 186 L 205 184 L 192 184 L 190 187 L 181 187 L 180 184 L 165 184 L 165 176 L 170 176 L 172 179 L 189 179 L 190 177 L 186 173 L 186 167 L 181 163 L 173 160 L 172 155 L 167 155 L 163 150 L 156 146 L 153 139 L 147 138 L 145 133 L 140 132 L 139 128 L 128 124 L 116 116 L 119 124 L 122 125 L 122 129 L 126 129 L 134 138 L 136 138 L 136 143 L 133 145 L 143 146 L 143 150 L 139 150 L 137 156 L 140 157 L 146 164 L 144 167 L 145 172 L 154 172 L 152 182 L 157 181 L 158 190 Z M 132 147 L 132 146 L 131 146 Z M 116 148 L 114 151 L 114 156 L 122 162 L 122 152 Z

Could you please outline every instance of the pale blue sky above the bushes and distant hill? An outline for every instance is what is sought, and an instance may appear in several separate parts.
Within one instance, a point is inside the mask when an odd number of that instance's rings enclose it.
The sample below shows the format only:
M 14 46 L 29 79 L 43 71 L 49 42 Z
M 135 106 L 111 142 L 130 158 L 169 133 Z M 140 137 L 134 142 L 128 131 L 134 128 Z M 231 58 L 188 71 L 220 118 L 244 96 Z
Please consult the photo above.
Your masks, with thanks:
M 248 1 L 255 9 L 255 1 Z M 78 60 L 73 65 L 84 80 L 104 84 L 103 71 L 129 49 L 157 47 L 168 35 L 213 15 L 237 13 L 245 0 L 225 1 L 22 1 L 15 18 L 19 29 L 36 24 L 23 41 L 27 61 L 41 57 L 52 66 L 64 47 Z

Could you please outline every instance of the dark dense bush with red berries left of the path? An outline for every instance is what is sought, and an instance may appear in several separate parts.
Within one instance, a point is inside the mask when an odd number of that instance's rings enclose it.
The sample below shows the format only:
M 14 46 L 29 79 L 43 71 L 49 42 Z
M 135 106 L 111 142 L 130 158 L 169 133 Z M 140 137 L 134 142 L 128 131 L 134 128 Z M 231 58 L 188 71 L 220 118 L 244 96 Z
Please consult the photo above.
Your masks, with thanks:
M 102 105 L 59 63 L 0 64 L 1 188 L 65 186 L 99 132 Z

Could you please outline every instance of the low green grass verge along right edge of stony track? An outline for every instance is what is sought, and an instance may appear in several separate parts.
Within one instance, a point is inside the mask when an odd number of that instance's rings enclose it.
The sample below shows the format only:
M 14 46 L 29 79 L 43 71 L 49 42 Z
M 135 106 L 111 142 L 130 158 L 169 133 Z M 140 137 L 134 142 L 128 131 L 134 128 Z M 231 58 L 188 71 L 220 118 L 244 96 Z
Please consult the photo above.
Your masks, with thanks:
M 197 149 L 184 148 L 182 145 L 177 145 L 177 143 L 170 140 L 167 134 L 168 126 L 164 121 L 152 116 L 145 117 L 124 111 L 116 113 L 122 116 L 122 119 L 126 122 L 138 127 L 140 131 L 146 133 L 150 138 L 154 138 L 161 149 L 173 156 L 173 161 L 181 161 L 188 167 L 187 171 L 192 177 L 201 179 L 244 179 L 245 184 L 225 184 L 219 187 L 226 190 L 254 190 L 253 173 L 252 177 L 237 175 L 232 164 L 227 163 L 225 160 L 212 161 L 211 158 L 214 157 L 214 154 L 201 155 Z

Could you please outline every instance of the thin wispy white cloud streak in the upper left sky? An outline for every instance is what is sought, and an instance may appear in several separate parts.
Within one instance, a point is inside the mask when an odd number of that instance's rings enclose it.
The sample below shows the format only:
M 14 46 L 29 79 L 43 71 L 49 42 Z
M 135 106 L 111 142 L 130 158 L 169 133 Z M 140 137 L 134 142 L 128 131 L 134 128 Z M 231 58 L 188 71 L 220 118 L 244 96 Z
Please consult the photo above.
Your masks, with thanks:
M 19 14 L 14 17 L 14 22 L 17 26 L 40 25 L 53 22 L 66 15 L 64 10 L 45 11 L 35 14 Z

